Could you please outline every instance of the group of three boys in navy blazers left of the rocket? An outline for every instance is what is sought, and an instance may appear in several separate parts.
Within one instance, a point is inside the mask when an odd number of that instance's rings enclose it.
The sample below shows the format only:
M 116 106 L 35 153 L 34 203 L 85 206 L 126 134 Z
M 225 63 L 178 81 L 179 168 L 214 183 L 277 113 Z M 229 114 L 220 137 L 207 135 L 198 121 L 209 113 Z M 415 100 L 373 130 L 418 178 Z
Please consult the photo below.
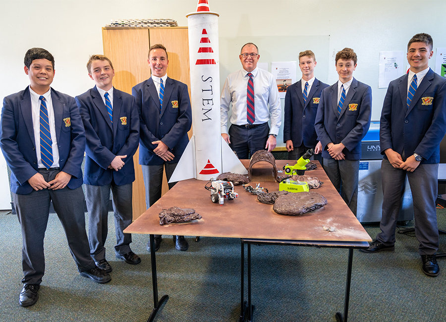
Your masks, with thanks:
M 111 280 L 104 246 L 110 194 L 115 257 L 141 263 L 130 248 L 131 234 L 123 232 L 132 222 L 133 155 L 139 146 L 149 208 L 161 197 L 163 167 L 171 174 L 192 124 L 187 86 L 167 77 L 166 48 L 152 46 L 148 62 L 152 76 L 136 85 L 132 96 L 113 88 L 111 60 L 92 55 L 87 70 L 95 87 L 72 98 L 50 87 L 53 55 L 42 48 L 26 52 L 24 69 L 30 85 L 4 98 L 0 120 L 0 147 L 11 169 L 10 187 L 22 231 L 21 306 L 38 300 L 51 202 L 81 276 L 97 283 Z M 176 249 L 187 250 L 184 236 L 173 239 Z M 161 236 L 156 240 L 159 247 Z

